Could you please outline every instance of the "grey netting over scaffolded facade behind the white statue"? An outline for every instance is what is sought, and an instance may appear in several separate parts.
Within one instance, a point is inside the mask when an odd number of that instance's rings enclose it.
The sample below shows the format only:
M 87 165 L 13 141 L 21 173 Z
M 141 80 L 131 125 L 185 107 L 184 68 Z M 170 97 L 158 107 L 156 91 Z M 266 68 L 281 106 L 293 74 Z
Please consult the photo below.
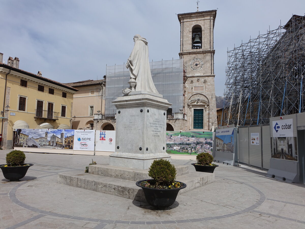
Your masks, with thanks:
M 172 112 L 183 108 L 183 59 L 150 62 L 152 80 L 163 98 L 173 104 Z M 107 66 L 105 113 L 115 114 L 116 108 L 111 103 L 122 96 L 122 89 L 129 88 L 129 69 L 126 65 Z

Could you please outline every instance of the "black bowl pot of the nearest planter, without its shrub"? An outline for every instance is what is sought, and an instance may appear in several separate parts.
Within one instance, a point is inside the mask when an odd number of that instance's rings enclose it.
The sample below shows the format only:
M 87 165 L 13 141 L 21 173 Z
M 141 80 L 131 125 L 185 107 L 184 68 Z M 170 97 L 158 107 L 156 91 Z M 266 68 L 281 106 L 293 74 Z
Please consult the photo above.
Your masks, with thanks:
M 177 198 L 178 192 L 181 189 L 186 187 L 185 183 L 180 182 L 183 184 L 183 186 L 180 188 L 176 188 L 176 189 L 149 188 L 149 187 L 144 187 L 144 186 L 140 185 L 142 181 L 145 181 L 145 180 L 138 181 L 136 183 L 136 185 L 143 189 L 146 201 L 150 205 L 156 207 L 157 209 L 166 208 L 166 207 L 169 207 L 170 205 L 172 205 Z M 177 181 L 177 182 L 179 182 L 179 181 Z

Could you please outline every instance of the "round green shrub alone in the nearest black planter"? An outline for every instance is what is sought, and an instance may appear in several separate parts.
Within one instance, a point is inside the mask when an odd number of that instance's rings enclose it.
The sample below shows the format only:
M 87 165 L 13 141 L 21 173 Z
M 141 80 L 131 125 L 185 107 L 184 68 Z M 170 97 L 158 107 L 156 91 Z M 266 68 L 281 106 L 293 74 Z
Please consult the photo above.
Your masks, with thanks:
M 156 186 L 168 186 L 176 179 L 176 168 L 164 159 L 154 160 L 149 167 L 148 176 L 155 180 Z

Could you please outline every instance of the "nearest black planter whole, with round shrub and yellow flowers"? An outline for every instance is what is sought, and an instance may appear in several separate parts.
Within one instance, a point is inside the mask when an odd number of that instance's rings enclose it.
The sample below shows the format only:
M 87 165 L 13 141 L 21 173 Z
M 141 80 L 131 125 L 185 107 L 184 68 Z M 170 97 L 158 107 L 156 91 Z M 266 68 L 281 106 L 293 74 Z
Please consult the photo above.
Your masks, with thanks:
M 186 187 L 185 183 L 175 180 L 175 166 L 164 159 L 153 161 L 148 175 L 153 179 L 140 180 L 136 185 L 143 189 L 146 201 L 156 209 L 173 205 L 178 192 Z

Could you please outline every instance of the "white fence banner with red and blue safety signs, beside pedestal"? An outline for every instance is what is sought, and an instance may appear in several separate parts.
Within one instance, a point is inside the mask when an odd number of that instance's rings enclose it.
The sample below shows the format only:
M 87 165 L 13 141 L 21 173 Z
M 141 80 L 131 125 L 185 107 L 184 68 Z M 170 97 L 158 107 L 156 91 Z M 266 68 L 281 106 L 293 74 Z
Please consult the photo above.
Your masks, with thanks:
M 95 133 L 96 151 L 115 151 L 115 130 L 97 130 Z

